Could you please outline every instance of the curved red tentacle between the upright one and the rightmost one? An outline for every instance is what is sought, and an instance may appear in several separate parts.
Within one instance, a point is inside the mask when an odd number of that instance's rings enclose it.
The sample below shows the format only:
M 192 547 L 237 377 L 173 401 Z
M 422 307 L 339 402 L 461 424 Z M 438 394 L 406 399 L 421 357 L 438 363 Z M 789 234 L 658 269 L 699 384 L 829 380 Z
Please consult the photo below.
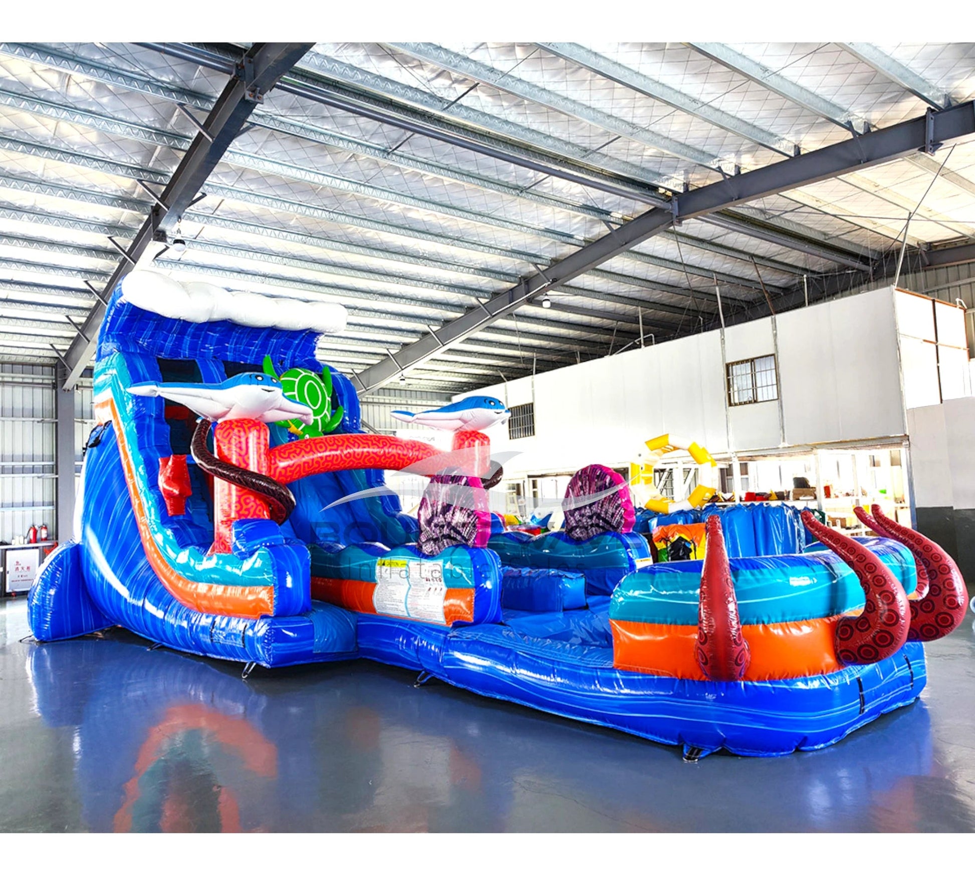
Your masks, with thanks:
M 908 595 L 877 554 L 859 542 L 824 526 L 811 512 L 803 512 L 802 523 L 827 548 L 832 549 L 860 580 L 867 597 L 858 616 L 839 619 L 837 657 L 843 664 L 876 664 L 889 658 L 908 640 Z

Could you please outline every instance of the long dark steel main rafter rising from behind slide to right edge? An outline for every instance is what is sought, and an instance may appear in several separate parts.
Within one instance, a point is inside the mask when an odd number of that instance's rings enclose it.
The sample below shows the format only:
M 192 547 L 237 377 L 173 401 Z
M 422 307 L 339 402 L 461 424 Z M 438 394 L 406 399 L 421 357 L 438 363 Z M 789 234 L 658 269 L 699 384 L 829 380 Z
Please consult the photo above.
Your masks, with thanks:
M 975 133 L 975 104 L 968 102 L 692 189 L 675 197 L 669 210 L 648 210 L 614 233 L 573 252 L 544 274 L 526 278 L 518 286 L 493 296 L 486 303 L 441 326 L 437 332 L 407 345 L 395 358 L 389 357 L 371 365 L 356 375 L 356 383 L 366 391 L 388 383 L 404 369 L 430 359 L 444 347 L 517 311 L 541 292 L 578 277 L 617 253 L 659 234 L 675 222 L 746 204 L 857 169 L 874 167 L 919 149 L 931 148 L 932 143 L 945 143 L 972 133 Z

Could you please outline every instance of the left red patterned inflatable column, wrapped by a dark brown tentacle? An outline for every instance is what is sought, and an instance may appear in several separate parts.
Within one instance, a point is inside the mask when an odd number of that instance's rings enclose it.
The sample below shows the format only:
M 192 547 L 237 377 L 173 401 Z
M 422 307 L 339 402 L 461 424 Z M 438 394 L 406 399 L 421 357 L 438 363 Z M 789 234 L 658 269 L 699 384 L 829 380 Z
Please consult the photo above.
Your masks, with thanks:
M 216 456 L 227 463 L 267 474 L 267 427 L 257 420 L 224 420 L 215 429 Z M 214 546 L 211 553 L 229 553 L 232 544 L 232 525 L 235 520 L 269 517 L 267 504 L 259 494 L 214 479 Z

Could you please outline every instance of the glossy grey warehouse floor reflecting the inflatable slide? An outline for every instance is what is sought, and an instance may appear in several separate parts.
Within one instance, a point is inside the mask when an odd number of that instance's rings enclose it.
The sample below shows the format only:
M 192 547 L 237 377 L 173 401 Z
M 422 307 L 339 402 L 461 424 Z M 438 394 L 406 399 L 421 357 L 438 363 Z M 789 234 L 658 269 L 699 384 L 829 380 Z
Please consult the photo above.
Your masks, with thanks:
M 681 752 L 366 662 L 258 668 L 0 601 L 0 831 L 972 831 L 975 634 L 820 752 Z

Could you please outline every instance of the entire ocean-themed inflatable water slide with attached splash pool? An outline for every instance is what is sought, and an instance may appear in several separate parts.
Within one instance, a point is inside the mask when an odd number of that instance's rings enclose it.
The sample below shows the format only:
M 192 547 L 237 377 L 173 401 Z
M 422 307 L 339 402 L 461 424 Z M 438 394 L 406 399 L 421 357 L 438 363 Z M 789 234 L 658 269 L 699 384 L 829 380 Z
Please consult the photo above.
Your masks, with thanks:
M 498 400 L 421 412 L 448 452 L 365 435 L 315 356 L 340 315 L 249 299 L 241 324 L 227 296 L 140 271 L 113 292 L 77 541 L 29 597 L 38 640 L 120 625 L 248 668 L 366 658 L 696 758 L 835 743 L 916 700 L 922 641 L 960 623 L 951 558 L 878 514 L 876 539 L 803 517 L 821 552 L 731 559 L 712 516 L 703 562 L 653 564 L 625 479 L 592 466 L 565 533 L 491 539 L 478 430 Z M 430 477 L 418 520 L 383 470 Z

